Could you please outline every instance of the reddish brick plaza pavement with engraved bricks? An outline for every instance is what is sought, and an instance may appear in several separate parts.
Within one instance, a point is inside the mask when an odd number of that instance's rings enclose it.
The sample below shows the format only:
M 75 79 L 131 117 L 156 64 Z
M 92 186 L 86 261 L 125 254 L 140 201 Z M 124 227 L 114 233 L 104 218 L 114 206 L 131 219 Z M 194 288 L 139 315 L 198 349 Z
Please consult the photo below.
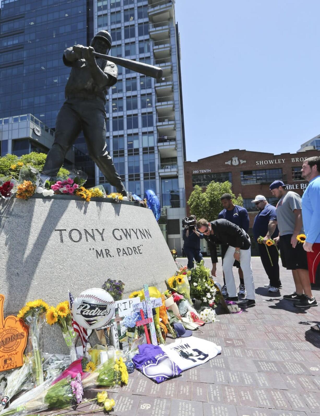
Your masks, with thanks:
M 186 259 L 177 261 L 186 265 Z M 205 264 L 211 268 L 209 258 Z M 311 323 L 320 323 L 320 306 L 304 312 L 281 295 L 269 294 L 260 258 L 252 264 L 256 307 L 218 315 L 201 328 L 203 333 L 193 332 L 221 345 L 221 355 L 161 384 L 134 371 L 127 386 L 110 390 L 116 401 L 111 415 L 320 416 L 320 334 L 310 331 Z M 280 273 L 281 293 L 293 292 L 291 273 L 283 268 Z M 218 282 L 221 276 L 220 261 Z M 320 291 L 314 295 L 320 303 Z M 97 406 L 80 408 L 92 414 Z

